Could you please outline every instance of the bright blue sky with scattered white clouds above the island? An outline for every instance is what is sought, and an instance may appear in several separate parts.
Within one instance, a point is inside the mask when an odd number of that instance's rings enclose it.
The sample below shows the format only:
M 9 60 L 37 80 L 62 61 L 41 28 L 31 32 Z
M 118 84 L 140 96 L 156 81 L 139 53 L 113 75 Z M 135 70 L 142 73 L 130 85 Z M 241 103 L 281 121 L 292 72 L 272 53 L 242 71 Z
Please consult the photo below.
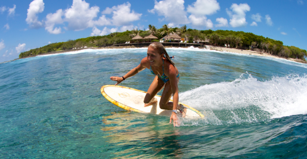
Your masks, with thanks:
M 307 0 L 1 0 L 0 62 L 50 43 L 164 24 L 251 32 L 307 50 Z

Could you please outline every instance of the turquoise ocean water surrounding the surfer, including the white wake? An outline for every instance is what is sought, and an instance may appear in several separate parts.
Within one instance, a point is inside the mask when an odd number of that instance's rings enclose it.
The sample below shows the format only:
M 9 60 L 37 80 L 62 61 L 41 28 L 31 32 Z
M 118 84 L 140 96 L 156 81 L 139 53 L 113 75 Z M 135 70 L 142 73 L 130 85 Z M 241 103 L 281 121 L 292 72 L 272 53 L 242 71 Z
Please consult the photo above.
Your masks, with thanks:
M 307 65 L 284 59 L 167 49 L 180 119 L 125 111 L 100 93 L 146 49 L 83 50 L 0 64 L 0 158 L 306 158 Z M 147 91 L 144 70 L 120 85 Z M 159 93 L 161 95 L 161 92 Z

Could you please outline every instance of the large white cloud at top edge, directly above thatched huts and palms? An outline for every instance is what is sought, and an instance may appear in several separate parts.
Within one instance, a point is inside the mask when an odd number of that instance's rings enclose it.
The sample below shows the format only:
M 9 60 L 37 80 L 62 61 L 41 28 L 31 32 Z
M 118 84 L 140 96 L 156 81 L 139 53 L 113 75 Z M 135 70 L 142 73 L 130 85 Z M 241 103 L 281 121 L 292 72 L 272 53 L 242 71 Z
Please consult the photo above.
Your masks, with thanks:
M 149 10 L 151 13 L 157 13 L 159 16 L 164 16 L 163 20 L 176 24 L 188 24 L 188 18 L 185 12 L 185 2 L 183 0 L 155 0 L 154 9 Z

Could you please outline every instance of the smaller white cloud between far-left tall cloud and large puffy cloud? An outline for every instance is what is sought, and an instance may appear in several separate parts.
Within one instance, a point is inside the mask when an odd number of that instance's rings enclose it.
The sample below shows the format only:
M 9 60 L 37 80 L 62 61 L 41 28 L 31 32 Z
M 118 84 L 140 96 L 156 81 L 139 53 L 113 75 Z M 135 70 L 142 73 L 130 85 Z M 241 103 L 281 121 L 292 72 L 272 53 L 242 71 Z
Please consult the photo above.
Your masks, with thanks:
M 53 27 L 55 24 L 63 23 L 62 15 L 63 15 L 62 9 L 57 10 L 56 13 L 47 14 L 45 21 L 45 30 L 47 30 L 51 34 L 61 33 L 61 27 L 54 29 Z

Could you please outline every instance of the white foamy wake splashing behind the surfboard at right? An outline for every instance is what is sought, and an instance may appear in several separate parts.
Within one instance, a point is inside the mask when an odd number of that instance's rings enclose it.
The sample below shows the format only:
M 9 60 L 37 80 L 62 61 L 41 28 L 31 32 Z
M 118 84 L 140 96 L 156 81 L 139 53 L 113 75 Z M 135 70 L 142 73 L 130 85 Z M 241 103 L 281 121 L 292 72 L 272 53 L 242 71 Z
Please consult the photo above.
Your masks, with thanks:
M 244 73 L 232 82 L 204 85 L 179 94 L 180 102 L 199 110 L 234 110 L 255 105 L 271 118 L 307 114 L 307 75 L 258 81 Z

